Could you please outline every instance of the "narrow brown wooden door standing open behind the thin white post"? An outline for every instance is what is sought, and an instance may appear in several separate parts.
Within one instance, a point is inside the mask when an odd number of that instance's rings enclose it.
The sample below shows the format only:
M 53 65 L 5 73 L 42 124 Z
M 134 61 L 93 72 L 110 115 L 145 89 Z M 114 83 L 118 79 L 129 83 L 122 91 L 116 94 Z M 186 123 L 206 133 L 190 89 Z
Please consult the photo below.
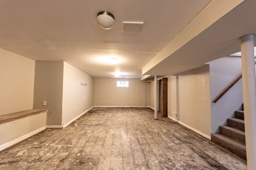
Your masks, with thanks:
M 163 117 L 168 116 L 168 104 L 167 104 L 167 94 L 168 94 L 168 87 L 167 87 L 167 77 L 162 78 L 162 115 Z

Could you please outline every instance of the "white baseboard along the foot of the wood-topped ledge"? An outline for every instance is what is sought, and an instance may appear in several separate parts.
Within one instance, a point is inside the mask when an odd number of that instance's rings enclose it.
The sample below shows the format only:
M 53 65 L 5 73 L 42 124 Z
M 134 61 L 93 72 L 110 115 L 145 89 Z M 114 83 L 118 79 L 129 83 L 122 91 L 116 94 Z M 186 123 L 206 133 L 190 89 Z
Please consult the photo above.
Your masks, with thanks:
M 25 139 L 27 139 L 27 138 L 29 138 L 29 137 L 31 137 L 31 136 L 39 133 L 39 132 L 42 132 L 43 130 L 45 130 L 45 128 L 46 128 L 45 126 L 41 127 L 41 128 L 38 128 L 38 129 L 34 130 L 33 132 L 30 132 L 28 134 L 25 134 L 23 136 L 20 136 L 20 137 L 14 139 L 14 140 L 11 140 L 9 142 L 6 142 L 6 143 L 0 145 L 0 151 L 18 143 L 18 142 L 21 142 L 22 140 L 25 140 Z

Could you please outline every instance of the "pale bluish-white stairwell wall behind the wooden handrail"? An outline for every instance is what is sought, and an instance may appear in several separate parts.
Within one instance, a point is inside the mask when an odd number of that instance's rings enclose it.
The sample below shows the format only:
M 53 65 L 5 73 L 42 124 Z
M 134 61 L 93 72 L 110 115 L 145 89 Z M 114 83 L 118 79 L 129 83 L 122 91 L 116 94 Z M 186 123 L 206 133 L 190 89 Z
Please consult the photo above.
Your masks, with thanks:
M 223 57 L 209 62 L 211 102 L 242 72 L 241 57 Z M 242 79 L 216 103 L 211 103 L 212 133 L 219 132 L 219 126 L 227 125 L 227 119 L 234 117 L 234 111 L 243 103 Z

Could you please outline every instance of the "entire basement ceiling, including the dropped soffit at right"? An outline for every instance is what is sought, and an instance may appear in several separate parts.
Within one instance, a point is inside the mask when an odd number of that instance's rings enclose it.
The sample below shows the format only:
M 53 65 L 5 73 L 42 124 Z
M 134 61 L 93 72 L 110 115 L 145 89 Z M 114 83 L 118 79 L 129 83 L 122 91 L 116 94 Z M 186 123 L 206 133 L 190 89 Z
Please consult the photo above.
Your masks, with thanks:
M 239 38 L 256 34 L 255 9 L 255 0 L 1 0 L 0 47 L 93 77 L 174 75 L 241 51 Z M 96 22 L 105 10 L 110 30 Z M 124 31 L 123 22 L 143 24 Z

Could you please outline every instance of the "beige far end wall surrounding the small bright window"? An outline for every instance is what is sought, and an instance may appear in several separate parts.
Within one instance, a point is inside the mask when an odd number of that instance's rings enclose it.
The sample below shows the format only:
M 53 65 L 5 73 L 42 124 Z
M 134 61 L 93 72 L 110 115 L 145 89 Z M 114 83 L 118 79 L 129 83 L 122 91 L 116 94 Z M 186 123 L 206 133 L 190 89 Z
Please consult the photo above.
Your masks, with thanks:
M 129 81 L 129 87 L 116 82 Z M 94 106 L 146 106 L 146 83 L 140 79 L 94 78 Z

